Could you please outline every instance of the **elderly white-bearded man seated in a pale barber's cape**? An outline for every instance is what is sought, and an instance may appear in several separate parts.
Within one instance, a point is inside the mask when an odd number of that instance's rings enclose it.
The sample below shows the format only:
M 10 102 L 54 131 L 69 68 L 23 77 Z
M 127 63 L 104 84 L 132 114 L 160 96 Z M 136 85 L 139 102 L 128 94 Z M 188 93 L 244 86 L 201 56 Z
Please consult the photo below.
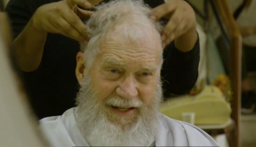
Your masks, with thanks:
M 57 146 L 218 146 L 204 131 L 159 113 L 160 24 L 142 1 L 112 1 L 87 22 L 91 40 L 77 54 L 77 107 L 43 118 Z

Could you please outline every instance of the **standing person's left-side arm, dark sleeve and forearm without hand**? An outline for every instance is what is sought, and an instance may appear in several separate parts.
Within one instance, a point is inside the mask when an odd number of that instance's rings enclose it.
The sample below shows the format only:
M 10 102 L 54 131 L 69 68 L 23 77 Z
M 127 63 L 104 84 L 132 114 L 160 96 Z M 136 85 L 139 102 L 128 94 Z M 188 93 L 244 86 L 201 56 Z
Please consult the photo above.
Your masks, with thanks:
M 42 58 L 46 32 L 36 30 L 31 17 L 43 1 L 10 0 L 5 11 L 9 17 L 14 42 L 12 52 L 22 71 L 33 71 Z

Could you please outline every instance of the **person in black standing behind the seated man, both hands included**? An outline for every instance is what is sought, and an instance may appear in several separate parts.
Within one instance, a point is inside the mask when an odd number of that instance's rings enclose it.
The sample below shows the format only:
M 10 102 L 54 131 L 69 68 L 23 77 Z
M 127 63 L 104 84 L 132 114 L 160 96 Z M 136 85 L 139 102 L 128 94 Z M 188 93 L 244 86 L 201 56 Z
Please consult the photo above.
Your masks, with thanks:
M 89 40 L 82 21 L 93 14 L 93 6 L 108 1 L 9 0 L 6 11 L 14 35 L 12 51 L 39 119 L 62 115 L 74 107 L 79 91 L 76 55 L 79 42 Z M 152 20 L 165 18 L 164 94 L 186 94 L 197 81 L 200 58 L 195 13 L 184 0 L 144 2 L 154 8 Z

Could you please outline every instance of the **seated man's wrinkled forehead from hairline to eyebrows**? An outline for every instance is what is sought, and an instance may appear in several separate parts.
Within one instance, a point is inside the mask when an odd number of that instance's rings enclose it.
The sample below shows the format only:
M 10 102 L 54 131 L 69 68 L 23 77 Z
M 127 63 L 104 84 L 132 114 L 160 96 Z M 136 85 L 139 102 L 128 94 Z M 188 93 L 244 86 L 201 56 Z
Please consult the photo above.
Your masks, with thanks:
M 139 37 L 140 38 L 140 37 Z M 101 63 L 111 62 L 116 65 L 130 65 L 133 63 L 149 63 L 156 65 L 162 54 L 162 45 L 157 35 L 152 34 L 149 40 L 143 37 L 132 40 L 124 33 L 107 33 L 99 45 L 98 59 Z

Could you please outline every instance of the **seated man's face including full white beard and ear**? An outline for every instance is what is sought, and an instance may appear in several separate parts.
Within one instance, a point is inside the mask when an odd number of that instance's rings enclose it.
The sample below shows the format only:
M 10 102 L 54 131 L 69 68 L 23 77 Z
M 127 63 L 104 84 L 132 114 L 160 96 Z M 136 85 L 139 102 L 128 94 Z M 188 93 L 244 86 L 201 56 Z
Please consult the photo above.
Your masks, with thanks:
M 81 68 L 84 55 L 77 54 L 77 125 L 92 146 L 145 146 L 158 128 L 160 38 L 135 43 L 117 31 L 108 36 L 91 69 Z

